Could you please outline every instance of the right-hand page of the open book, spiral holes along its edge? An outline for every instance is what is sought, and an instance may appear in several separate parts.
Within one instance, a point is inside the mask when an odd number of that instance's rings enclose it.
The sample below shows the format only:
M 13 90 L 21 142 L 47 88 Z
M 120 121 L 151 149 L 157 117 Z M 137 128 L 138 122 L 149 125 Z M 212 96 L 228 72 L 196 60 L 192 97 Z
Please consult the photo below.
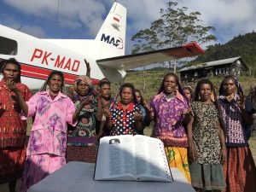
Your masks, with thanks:
M 172 182 L 164 144 L 160 139 L 137 135 L 134 142 L 136 179 Z

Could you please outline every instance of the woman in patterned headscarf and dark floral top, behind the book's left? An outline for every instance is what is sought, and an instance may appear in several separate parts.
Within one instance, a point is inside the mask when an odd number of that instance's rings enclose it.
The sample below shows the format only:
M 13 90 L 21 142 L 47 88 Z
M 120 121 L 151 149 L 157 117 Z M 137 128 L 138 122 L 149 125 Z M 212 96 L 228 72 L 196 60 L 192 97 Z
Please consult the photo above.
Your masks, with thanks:
M 68 126 L 67 133 L 67 162 L 84 161 L 96 162 L 96 104 L 93 102 L 93 88 L 90 78 L 80 76 L 73 83 L 76 94 L 73 102 L 76 108 L 84 108 L 79 113 L 78 124 Z

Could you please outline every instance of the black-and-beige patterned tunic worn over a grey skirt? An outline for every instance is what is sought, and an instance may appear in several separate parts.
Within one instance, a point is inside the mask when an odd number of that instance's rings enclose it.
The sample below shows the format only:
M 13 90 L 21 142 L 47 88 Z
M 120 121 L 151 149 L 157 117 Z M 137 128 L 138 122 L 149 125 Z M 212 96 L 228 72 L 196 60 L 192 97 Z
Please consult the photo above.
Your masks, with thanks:
M 192 102 L 194 115 L 193 143 L 199 164 L 220 164 L 218 109 L 213 103 Z

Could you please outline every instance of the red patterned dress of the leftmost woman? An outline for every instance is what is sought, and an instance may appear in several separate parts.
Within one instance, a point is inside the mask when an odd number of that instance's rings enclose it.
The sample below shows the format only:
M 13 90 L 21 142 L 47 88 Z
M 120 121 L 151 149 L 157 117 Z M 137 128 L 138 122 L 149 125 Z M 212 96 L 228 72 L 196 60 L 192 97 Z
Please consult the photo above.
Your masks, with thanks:
M 21 96 L 28 101 L 32 96 L 25 84 L 17 83 Z M 0 184 L 21 177 L 26 154 L 26 120 L 20 119 L 20 106 L 6 81 L 0 81 Z

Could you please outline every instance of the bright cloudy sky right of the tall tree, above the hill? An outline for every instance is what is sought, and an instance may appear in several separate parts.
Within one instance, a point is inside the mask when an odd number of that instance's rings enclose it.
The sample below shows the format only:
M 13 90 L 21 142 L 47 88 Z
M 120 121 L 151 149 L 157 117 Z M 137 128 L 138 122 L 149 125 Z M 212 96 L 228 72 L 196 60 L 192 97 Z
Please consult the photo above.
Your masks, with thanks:
M 254 0 L 183 0 L 180 5 L 189 11 L 201 12 L 201 20 L 206 26 L 214 26 L 219 43 L 255 30 L 256 3 Z

